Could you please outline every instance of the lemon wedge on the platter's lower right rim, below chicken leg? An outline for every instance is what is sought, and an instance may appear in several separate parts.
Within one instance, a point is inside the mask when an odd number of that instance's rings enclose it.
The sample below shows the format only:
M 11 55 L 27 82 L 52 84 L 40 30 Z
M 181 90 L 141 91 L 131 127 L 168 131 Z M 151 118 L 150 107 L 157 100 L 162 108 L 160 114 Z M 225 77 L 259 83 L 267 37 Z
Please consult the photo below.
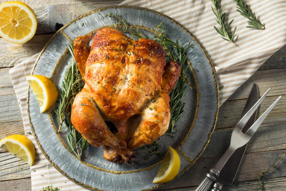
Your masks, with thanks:
M 153 183 L 163 183 L 173 180 L 180 170 L 181 160 L 178 153 L 171 146 L 164 156 L 163 162 L 159 167 L 158 173 Z

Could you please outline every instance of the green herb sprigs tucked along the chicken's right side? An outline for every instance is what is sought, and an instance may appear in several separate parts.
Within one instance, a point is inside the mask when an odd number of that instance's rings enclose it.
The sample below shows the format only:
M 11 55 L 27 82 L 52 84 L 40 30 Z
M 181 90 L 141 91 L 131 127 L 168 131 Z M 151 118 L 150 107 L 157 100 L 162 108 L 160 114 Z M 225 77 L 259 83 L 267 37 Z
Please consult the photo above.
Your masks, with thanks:
M 167 133 L 173 133 L 173 129 L 176 128 L 175 124 L 180 119 L 182 114 L 184 113 L 184 105 L 185 102 L 183 101 L 184 94 L 186 93 L 186 90 L 188 89 L 188 86 L 186 84 L 189 84 L 191 88 L 194 88 L 194 86 L 189 82 L 188 77 L 186 76 L 186 73 L 189 69 L 189 65 L 186 62 L 187 56 L 186 52 L 189 48 L 193 46 L 189 45 L 186 48 L 183 46 L 180 46 L 178 44 L 178 40 L 176 42 L 173 42 L 166 36 L 166 32 L 164 31 L 164 28 L 162 26 L 162 22 L 158 23 L 154 27 L 155 32 L 155 40 L 162 44 L 162 46 L 165 48 L 166 56 L 169 57 L 170 60 L 178 62 L 181 65 L 181 74 L 180 78 L 178 79 L 178 82 L 176 86 L 173 88 L 171 94 L 170 94 L 170 125 L 167 130 Z

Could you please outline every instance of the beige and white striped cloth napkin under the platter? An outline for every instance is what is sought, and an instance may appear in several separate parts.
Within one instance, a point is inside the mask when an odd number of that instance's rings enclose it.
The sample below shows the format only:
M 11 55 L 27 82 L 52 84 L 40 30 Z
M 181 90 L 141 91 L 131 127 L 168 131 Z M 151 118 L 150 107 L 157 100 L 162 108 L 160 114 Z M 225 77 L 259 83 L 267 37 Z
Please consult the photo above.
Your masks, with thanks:
M 126 0 L 121 5 L 136 5 L 164 13 L 184 25 L 204 46 L 215 66 L 222 104 L 243 82 L 265 62 L 273 53 L 286 44 L 286 0 L 245 0 L 259 19 L 266 23 L 265 30 L 246 28 L 247 19 L 236 11 L 233 0 L 224 0 L 228 20 L 235 19 L 232 26 L 237 26 L 238 38 L 234 46 L 215 31 L 218 26 L 212 12 L 212 3 L 197 0 Z M 31 131 L 27 117 L 27 82 L 25 76 L 31 69 L 37 55 L 23 61 L 9 73 L 21 108 L 25 132 Z M 27 134 L 36 146 L 36 159 L 31 167 L 32 190 L 38 191 L 42 186 L 53 185 L 60 190 L 86 190 L 59 173 L 45 159 L 34 137 Z

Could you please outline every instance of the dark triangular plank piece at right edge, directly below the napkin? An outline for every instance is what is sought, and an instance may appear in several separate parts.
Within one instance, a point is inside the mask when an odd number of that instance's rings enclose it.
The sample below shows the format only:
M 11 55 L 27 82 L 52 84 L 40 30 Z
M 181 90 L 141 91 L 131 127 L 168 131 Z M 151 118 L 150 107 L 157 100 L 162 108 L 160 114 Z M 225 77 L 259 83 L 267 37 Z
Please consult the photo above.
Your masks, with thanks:
M 275 52 L 258 70 L 269 70 L 286 67 L 286 45 Z

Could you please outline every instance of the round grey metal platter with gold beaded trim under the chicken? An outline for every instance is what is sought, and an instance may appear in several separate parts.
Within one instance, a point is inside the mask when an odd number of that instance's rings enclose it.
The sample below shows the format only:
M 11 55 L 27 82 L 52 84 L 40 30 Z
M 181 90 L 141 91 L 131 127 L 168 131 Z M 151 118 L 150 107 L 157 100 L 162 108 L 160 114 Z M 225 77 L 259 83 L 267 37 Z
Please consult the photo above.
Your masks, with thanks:
M 140 160 L 140 164 L 134 166 L 109 162 L 103 158 L 102 147 L 91 145 L 80 161 L 67 150 L 68 132 L 55 133 L 59 127 L 54 112 L 57 104 L 50 111 L 40 114 L 35 96 L 29 89 L 28 117 L 43 154 L 59 172 L 73 182 L 91 190 L 152 190 L 166 184 L 153 184 L 152 180 L 157 174 L 168 145 L 177 150 L 181 159 L 180 171 L 176 176 L 178 177 L 194 164 L 210 140 L 219 108 L 215 71 L 198 40 L 178 22 L 151 9 L 114 6 L 90 11 L 63 26 L 43 48 L 32 74 L 50 77 L 59 90 L 65 70 L 72 60 L 65 44 L 73 43 L 76 37 L 96 32 L 102 27 L 112 27 L 116 20 L 104 17 L 109 13 L 122 16 L 150 39 L 154 37 L 150 29 L 162 22 L 171 40 L 178 39 L 178 43 L 185 47 L 194 44 L 187 51 L 187 57 L 190 64 L 188 78 L 196 88 L 188 88 L 184 96 L 185 112 L 176 123 L 174 137 L 160 137 L 160 154 L 152 155 L 148 160 Z

